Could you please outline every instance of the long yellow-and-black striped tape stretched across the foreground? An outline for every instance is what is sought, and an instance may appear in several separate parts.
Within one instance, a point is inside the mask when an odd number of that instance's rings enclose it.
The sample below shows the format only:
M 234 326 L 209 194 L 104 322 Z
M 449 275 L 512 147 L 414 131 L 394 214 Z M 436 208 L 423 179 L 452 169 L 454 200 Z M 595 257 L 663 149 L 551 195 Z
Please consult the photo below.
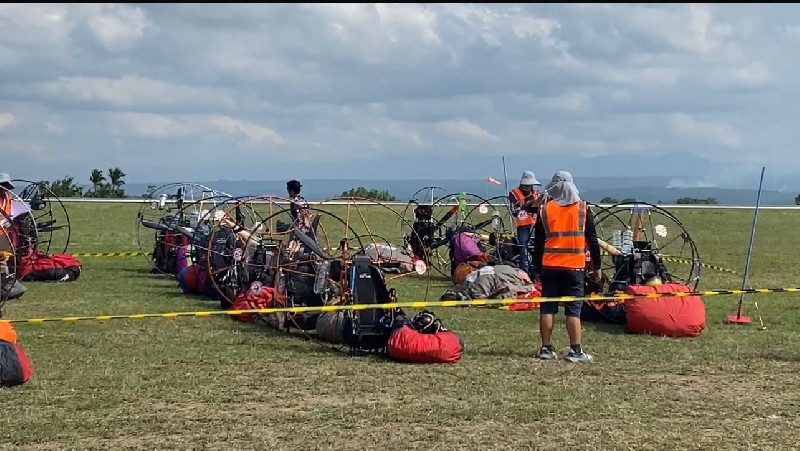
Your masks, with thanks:
M 615 295 L 592 295 L 592 296 L 563 296 L 563 297 L 539 297 L 539 298 L 503 298 L 503 299 L 473 299 L 469 301 L 421 301 L 421 302 L 391 302 L 386 304 L 349 304 L 349 305 L 326 305 L 320 307 L 276 307 L 249 310 L 209 310 L 201 312 L 171 312 L 171 313 L 138 313 L 134 315 L 100 315 L 100 316 L 68 316 L 60 318 L 28 318 L 28 319 L 0 319 L 0 323 L 29 323 L 41 324 L 46 322 L 65 322 L 72 323 L 77 321 L 107 321 L 114 319 L 144 319 L 144 318 L 177 318 L 192 316 L 196 318 L 208 318 L 211 316 L 238 316 L 246 314 L 271 314 L 271 313 L 322 313 L 335 312 L 342 310 L 390 310 L 398 308 L 430 308 L 430 307 L 485 307 L 485 306 L 510 306 L 513 304 L 530 304 L 546 302 L 572 302 L 572 301 L 615 301 L 625 299 L 641 298 L 661 298 L 661 297 L 686 297 L 686 296 L 725 296 L 736 294 L 764 294 L 764 293 L 798 293 L 797 288 L 749 288 L 744 290 L 708 290 L 708 291 L 674 291 L 668 293 L 648 293 L 641 295 L 615 294 Z

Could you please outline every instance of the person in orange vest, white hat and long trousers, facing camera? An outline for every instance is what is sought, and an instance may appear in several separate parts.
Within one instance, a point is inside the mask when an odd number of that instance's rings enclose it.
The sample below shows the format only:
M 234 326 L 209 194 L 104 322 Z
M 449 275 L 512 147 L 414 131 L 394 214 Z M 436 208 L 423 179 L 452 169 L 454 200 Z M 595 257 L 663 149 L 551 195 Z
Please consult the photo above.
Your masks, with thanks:
M 508 203 L 511 214 L 514 215 L 514 225 L 517 229 L 517 255 L 519 256 L 519 269 L 530 273 L 528 265 L 528 242 L 533 233 L 533 224 L 541 202 L 541 194 L 533 189 L 542 186 L 532 171 L 522 173 L 519 186 L 508 193 Z

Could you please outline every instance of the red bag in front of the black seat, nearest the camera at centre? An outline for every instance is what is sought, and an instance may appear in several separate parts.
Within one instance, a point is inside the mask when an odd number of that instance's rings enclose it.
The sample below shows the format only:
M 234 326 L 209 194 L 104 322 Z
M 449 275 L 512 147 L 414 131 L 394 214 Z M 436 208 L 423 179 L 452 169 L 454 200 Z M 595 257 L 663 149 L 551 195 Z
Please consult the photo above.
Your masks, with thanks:
M 387 346 L 389 356 L 404 363 L 455 363 L 461 359 L 464 344 L 449 330 L 423 334 L 410 326 L 392 333 Z

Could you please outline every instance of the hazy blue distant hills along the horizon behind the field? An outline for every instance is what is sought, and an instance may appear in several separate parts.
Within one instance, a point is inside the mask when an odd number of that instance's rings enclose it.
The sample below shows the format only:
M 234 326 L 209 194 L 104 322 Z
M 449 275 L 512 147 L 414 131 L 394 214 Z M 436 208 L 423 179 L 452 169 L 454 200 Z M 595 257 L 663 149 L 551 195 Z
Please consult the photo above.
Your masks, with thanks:
M 500 179 L 502 181 L 502 179 Z M 691 197 L 706 199 L 713 197 L 720 205 L 753 205 L 756 201 L 755 189 L 726 189 L 716 187 L 671 187 L 675 186 L 675 177 L 576 177 L 581 197 L 591 202 L 600 202 L 604 197 L 615 199 L 632 198 L 648 203 L 673 204 L 679 198 Z M 547 180 L 539 180 L 546 183 Z M 466 192 L 480 197 L 505 196 L 507 191 L 503 185 L 494 185 L 483 180 L 301 180 L 303 196 L 312 201 L 337 197 L 351 188 L 363 186 L 367 189 L 388 190 L 398 201 L 409 200 L 420 188 L 437 186 L 436 195 L 444 192 Z M 516 186 L 518 180 L 509 180 L 509 188 Z M 226 192 L 232 196 L 274 194 L 286 195 L 286 181 L 204 181 L 192 182 Z M 149 185 L 160 186 L 165 183 L 143 184 L 129 183 L 125 186 L 129 196 L 140 196 L 147 192 Z M 794 205 L 798 193 L 789 191 L 764 190 L 761 193 L 762 205 Z M 429 192 L 428 192 L 428 195 Z

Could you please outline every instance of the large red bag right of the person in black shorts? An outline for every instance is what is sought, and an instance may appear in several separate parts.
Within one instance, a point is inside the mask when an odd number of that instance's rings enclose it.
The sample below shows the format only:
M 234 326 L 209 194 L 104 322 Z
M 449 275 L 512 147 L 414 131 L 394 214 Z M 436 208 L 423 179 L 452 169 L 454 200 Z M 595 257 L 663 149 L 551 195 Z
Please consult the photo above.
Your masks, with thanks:
M 692 291 L 686 284 L 671 282 L 656 286 L 631 285 L 625 293 L 638 296 Z M 627 330 L 632 334 L 696 337 L 706 326 L 706 307 L 700 296 L 626 299 L 624 305 Z

